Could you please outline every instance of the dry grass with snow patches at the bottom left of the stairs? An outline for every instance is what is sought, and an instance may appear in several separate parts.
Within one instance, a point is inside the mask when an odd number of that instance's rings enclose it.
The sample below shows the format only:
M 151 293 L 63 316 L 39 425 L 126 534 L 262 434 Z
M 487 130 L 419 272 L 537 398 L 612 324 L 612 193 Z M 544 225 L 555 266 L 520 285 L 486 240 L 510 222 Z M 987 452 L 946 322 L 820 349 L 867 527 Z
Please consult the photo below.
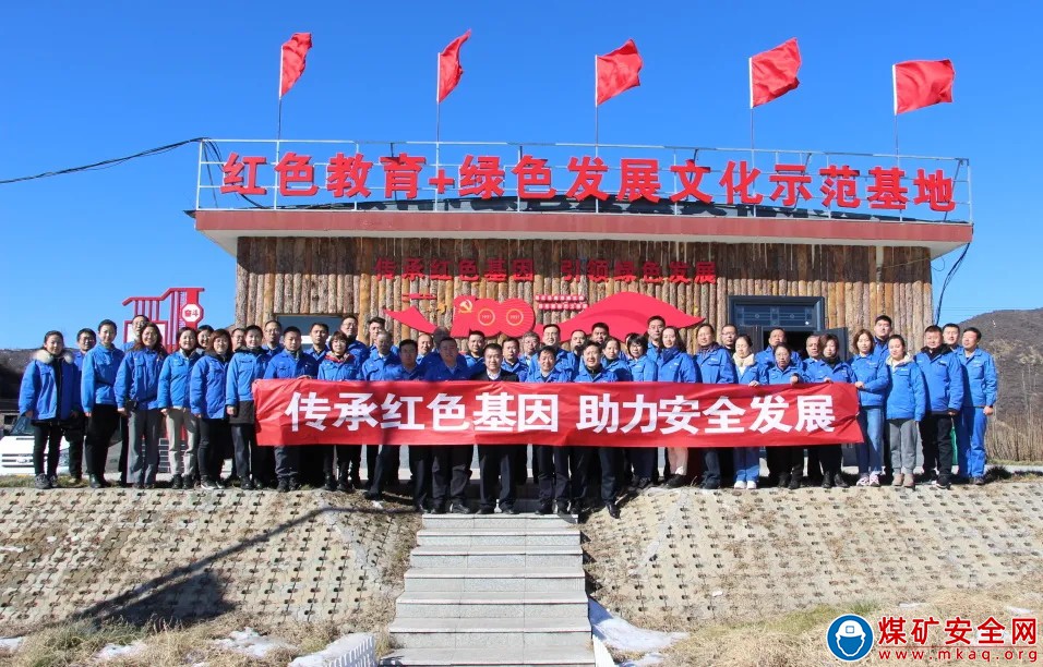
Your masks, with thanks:
M 296 650 L 276 650 L 261 659 L 248 657 L 215 646 L 216 639 L 227 638 L 233 630 L 253 628 L 262 635 L 271 635 Z M 336 623 L 293 622 L 266 627 L 263 621 L 241 614 L 228 614 L 213 621 L 190 627 L 153 626 L 137 628 L 122 622 L 103 624 L 80 621 L 44 630 L 26 638 L 21 650 L 7 657 L 2 664 L 12 667 L 63 667 L 84 665 L 106 644 L 127 645 L 135 640 L 144 641 L 144 648 L 132 656 L 106 662 L 113 667 L 184 665 L 205 662 L 208 667 L 241 667 L 245 665 L 284 666 L 299 655 L 322 651 L 336 639 L 356 631 Z

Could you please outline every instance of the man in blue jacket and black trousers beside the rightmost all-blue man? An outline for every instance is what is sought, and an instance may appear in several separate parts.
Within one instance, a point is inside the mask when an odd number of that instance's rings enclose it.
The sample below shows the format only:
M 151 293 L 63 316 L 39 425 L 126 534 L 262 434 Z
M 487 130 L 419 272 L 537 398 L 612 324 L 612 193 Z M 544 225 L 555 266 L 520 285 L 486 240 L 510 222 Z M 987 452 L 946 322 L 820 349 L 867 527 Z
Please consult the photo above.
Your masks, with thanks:
M 942 341 L 942 329 L 931 325 L 924 330 L 924 348 L 916 354 L 927 388 L 927 414 L 920 422 L 923 441 L 924 478 L 937 466 L 937 488 L 947 489 L 952 476 L 952 420 L 963 407 L 963 365 Z

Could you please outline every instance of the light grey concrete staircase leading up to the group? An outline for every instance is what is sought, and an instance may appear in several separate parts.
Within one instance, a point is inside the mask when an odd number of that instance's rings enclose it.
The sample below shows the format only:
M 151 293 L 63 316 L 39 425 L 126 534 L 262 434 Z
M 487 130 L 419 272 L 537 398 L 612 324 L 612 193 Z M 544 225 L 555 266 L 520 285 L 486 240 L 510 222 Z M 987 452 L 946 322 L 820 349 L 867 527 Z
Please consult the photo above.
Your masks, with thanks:
M 382 665 L 591 666 L 579 530 L 556 516 L 423 517 Z

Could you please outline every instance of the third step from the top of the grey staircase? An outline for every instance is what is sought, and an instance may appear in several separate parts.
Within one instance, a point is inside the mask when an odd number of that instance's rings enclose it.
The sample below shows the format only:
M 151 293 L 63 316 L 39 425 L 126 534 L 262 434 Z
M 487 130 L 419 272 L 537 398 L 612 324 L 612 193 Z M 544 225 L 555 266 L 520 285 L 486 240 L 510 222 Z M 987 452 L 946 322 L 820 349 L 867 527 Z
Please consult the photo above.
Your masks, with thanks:
M 573 546 L 422 546 L 412 550 L 413 568 L 565 568 L 583 565 Z

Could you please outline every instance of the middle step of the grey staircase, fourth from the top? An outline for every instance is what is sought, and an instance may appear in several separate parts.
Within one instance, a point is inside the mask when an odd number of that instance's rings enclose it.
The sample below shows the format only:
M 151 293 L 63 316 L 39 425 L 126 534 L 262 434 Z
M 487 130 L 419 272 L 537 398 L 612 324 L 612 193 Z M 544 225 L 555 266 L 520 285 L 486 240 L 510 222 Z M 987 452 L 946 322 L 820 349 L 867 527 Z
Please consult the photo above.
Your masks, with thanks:
M 579 563 L 564 568 L 425 568 L 406 571 L 406 592 L 585 592 Z

